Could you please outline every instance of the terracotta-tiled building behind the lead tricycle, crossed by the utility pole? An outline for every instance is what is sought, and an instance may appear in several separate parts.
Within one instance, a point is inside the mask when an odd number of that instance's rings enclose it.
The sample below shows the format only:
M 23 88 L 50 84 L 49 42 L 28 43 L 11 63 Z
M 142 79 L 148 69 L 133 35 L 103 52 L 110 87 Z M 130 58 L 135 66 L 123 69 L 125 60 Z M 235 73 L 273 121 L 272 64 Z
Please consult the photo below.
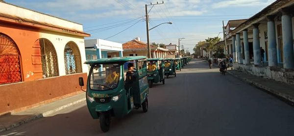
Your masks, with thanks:
M 172 53 L 165 48 L 150 45 L 151 58 L 171 58 Z M 147 56 L 147 44 L 140 40 L 134 39 L 123 43 L 123 56 Z

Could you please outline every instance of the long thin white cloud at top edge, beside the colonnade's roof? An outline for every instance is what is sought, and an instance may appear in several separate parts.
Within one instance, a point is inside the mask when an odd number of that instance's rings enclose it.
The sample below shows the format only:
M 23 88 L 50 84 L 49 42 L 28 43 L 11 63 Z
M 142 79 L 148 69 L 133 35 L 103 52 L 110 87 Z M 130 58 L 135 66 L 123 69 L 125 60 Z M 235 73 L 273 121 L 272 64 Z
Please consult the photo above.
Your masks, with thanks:
M 212 4 L 212 8 L 225 8 L 225 7 L 240 7 L 240 6 L 265 6 L 269 5 L 275 0 L 226 0 Z

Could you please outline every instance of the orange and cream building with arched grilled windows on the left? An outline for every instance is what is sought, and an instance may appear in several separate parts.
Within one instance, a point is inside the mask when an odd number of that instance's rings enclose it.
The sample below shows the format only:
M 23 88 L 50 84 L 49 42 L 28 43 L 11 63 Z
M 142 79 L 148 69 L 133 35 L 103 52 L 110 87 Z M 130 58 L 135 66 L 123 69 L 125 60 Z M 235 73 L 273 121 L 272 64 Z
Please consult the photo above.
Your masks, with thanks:
M 0 115 L 80 93 L 81 24 L 0 1 Z

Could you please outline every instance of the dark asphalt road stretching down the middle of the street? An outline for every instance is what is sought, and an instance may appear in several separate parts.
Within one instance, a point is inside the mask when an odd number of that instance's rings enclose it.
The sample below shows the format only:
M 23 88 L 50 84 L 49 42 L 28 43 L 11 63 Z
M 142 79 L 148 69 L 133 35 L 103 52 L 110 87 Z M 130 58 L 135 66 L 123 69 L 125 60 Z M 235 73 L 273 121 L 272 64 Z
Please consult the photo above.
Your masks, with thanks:
M 8 136 L 294 136 L 294 107 L 217 68 L 193 60 L 149 89 L 149 110 L 113 118 L 102 133 L 85 104 L 0 135 Z

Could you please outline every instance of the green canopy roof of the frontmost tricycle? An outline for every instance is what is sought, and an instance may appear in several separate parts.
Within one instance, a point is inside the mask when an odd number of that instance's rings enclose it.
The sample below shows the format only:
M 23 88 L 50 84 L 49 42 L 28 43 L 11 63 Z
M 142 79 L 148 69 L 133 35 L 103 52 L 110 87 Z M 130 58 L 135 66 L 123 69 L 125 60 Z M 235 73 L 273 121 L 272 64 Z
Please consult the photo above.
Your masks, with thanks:
M 87 60 L 85 64 L 105 64 L 113 62 L 127 62 L 132 60 L 146 59 L 146 56 L 123 56 L 123 57 L 111 57 L 111 58 L 99 58 L 93 60 Z

